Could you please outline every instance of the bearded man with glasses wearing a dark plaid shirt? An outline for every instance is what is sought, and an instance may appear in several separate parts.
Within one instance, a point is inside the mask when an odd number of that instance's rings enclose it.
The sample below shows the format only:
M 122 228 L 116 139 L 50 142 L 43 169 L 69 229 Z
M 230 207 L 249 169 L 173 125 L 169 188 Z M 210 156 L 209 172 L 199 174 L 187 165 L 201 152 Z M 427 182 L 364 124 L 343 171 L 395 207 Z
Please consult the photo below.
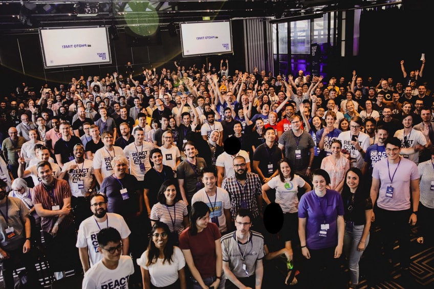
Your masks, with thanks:
M 235 174 L 225 179 L 222 184 L 231 199 L 231 217 L 235 219 L 240 208 L 249 209 L 253 216 L 252 224 L 259 231 L 263 228 L 261 180 L 257 174 L 247 172 L 246 159 L 241 155 L 233 159 L 233 169 Z

